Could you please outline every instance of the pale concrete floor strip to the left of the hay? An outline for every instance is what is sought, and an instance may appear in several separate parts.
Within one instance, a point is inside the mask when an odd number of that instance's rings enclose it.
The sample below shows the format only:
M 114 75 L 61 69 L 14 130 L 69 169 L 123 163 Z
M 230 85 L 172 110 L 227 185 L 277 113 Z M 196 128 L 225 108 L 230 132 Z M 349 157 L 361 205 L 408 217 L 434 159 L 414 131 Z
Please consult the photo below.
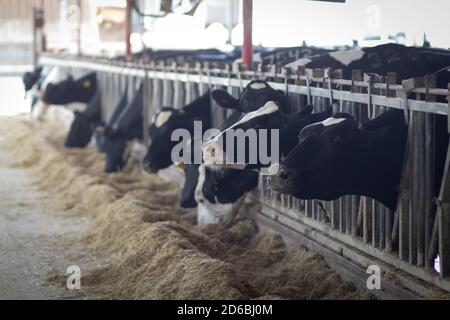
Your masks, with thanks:
M 66 261 L 72 245 L 62 240 L 86 223 L 59 212 L 57 200 L 33 186 L 29 169 L 10 167 L 1 144 L 0 136 L 0 300 L 84 298 L 46 279 L 65 279 L 74 263 Z

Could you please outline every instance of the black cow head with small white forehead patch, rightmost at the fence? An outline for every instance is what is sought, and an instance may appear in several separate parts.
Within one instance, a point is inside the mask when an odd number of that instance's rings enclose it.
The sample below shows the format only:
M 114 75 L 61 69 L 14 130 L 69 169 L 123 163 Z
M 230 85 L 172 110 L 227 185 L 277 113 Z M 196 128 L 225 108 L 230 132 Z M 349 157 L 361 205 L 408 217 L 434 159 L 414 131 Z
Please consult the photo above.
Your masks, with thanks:
M 305 127 L 298 146 L 270 170 L 278 172 L 269 178 L 270 185 L 300 199 L 356 194 L 394 209 L 406 137 L 401 112 L 394 118 L 366 130 L 350 115 L 336 114 Z

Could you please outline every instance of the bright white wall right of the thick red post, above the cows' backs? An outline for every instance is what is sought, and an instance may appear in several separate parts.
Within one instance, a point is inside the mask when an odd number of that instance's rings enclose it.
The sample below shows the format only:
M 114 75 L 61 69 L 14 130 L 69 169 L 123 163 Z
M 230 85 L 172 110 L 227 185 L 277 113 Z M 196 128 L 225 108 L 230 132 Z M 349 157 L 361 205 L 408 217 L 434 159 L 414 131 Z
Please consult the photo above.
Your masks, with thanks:
M 450 48 L 449 12 L 448 0 L 254 0 L 255 42 L 293 46 L 305 40 L 331 46 L 362 41 L 368 34 L 387 41 L 389 34 L 405 32 L 407 44 L 421 45 L 425 32 L 433 46 Z

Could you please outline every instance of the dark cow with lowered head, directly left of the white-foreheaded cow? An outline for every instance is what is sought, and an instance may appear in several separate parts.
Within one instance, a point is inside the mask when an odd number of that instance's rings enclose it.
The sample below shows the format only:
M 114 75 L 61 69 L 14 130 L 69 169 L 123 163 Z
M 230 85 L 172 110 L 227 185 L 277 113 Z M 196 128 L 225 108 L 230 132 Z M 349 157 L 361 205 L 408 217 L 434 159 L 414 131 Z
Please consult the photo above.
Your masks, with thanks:
M 143 138 L 143 84 L 128 105 L 122 110 L 117 120 L 104 132 L 103 150 L 106 155 L 104 171 L 120 171 L 125 165 L 125 150 L 128 142 Z

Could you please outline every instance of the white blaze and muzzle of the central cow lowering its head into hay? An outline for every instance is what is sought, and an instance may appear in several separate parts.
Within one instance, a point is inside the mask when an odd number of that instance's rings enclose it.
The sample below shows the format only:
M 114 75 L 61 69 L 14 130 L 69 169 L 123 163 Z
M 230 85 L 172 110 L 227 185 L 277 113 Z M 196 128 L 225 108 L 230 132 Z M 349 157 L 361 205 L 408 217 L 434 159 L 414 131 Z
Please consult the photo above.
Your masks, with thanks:
M 244 203 L 246 194 L 234 203 L 211 203 L 203 196 L 203 185 L 206 179 L 206 166 L 201 165 L 198 169 L 199 177 L 195 188 L 195 200 L 198 203 L 197 223 L 202 224 L 224 224 L 229 225 L 240 207 Z

